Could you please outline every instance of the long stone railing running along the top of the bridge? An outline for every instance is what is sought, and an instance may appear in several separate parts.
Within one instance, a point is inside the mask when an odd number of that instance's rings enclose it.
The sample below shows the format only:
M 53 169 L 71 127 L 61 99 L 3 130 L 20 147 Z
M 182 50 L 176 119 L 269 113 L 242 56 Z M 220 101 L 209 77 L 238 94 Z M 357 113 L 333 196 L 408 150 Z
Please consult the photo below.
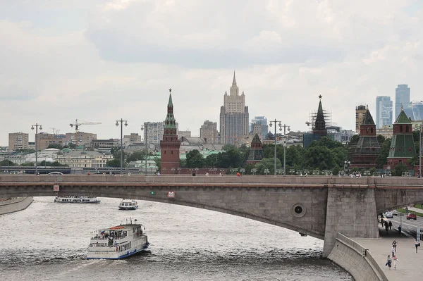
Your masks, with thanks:
M 234 185 L 286 185 L 287 187 L 374 187 L 401 186 L 422 187 L 423 180 L 417 177 L 295 177 L 281 175 L 0 175 L 0 183 L 28 183 L 28 182 L 145 182 L 145 183 L 201 183 L 201 184 L 234 184 Z

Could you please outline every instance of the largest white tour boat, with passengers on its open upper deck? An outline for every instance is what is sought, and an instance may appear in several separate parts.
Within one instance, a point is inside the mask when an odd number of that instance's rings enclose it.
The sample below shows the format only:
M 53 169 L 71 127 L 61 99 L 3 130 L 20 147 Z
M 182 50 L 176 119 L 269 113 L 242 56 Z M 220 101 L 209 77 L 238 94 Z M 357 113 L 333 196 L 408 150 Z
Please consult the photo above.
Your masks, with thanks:
M 144 251 L 149 246 L 145 227 L 137 220 L 103 228 L 92 233 L 87 259 L 120 259 Z

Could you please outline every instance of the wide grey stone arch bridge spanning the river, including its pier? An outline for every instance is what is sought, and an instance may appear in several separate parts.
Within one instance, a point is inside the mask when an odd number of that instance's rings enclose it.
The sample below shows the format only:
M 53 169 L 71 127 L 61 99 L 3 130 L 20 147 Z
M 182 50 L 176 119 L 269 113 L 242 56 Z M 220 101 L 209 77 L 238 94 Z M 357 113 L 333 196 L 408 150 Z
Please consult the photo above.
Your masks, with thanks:
M 274 175 L 0 176 L 0 197 L 56 194 L 157 201 L 243 216 L 324 239 L 326 257 L 338 232 L 348 237 L 379 237 L 377 213 L 422 203 L 423 180 Z

